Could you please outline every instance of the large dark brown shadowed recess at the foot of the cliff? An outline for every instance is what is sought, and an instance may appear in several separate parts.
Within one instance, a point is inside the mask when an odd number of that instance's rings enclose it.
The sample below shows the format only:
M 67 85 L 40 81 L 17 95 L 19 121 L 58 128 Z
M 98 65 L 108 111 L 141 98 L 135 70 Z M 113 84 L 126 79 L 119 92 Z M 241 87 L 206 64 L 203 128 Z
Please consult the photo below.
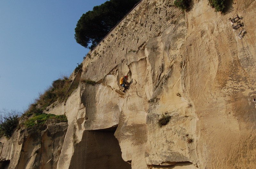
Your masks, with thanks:
M 131 169 L 131 164 L 122 158 L 115 131 L 116 127 L 84 131 L 82 140 L 75 146 L 69 168 Z

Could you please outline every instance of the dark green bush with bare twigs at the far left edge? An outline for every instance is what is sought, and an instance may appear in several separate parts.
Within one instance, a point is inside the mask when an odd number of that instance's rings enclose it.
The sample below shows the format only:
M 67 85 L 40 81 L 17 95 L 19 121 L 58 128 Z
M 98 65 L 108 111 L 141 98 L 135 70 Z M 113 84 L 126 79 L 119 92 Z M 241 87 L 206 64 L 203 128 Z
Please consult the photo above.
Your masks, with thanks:
M 3 117 L 3 119 L 0 122 L 1 135 L 4 135 L 7 138 L 10 138 L 18 125 L 19 125 L 18 115 L 8 115 L 7 117 Z

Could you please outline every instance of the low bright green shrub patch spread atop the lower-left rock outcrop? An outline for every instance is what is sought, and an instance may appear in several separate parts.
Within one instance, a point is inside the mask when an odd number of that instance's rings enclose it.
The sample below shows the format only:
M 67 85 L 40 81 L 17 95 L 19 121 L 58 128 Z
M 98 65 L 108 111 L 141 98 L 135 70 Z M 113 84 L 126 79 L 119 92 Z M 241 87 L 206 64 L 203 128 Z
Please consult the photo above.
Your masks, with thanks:
M 33 127 L 36 126 L 36 121 L 39 121 L 39 124 L 44 124 L 46 120 L 48 119 L 56 119 L 56 120 L 60 120 L 60 121 L 65 121 L 67 122 L 67 117 L 65 115 L 54 115 L 54 114 L 46 114 L 46 113 L 42 113 L 42 114 L 37 114 L 34 117 L 28 119 L 27 121 L 24 122 L 24 125 L 26 127 Z

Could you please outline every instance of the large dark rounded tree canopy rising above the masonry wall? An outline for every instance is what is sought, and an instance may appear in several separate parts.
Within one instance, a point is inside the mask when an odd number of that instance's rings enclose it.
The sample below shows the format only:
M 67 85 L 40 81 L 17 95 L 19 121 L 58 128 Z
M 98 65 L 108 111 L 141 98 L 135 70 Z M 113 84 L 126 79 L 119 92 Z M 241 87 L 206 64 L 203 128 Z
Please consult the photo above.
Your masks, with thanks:
M 94 48 L 139 1 L 110 0 L 94 6 L 92 11 L 86 12 L 78 20 L 75 28 L 76 42 L 85 48 Z

